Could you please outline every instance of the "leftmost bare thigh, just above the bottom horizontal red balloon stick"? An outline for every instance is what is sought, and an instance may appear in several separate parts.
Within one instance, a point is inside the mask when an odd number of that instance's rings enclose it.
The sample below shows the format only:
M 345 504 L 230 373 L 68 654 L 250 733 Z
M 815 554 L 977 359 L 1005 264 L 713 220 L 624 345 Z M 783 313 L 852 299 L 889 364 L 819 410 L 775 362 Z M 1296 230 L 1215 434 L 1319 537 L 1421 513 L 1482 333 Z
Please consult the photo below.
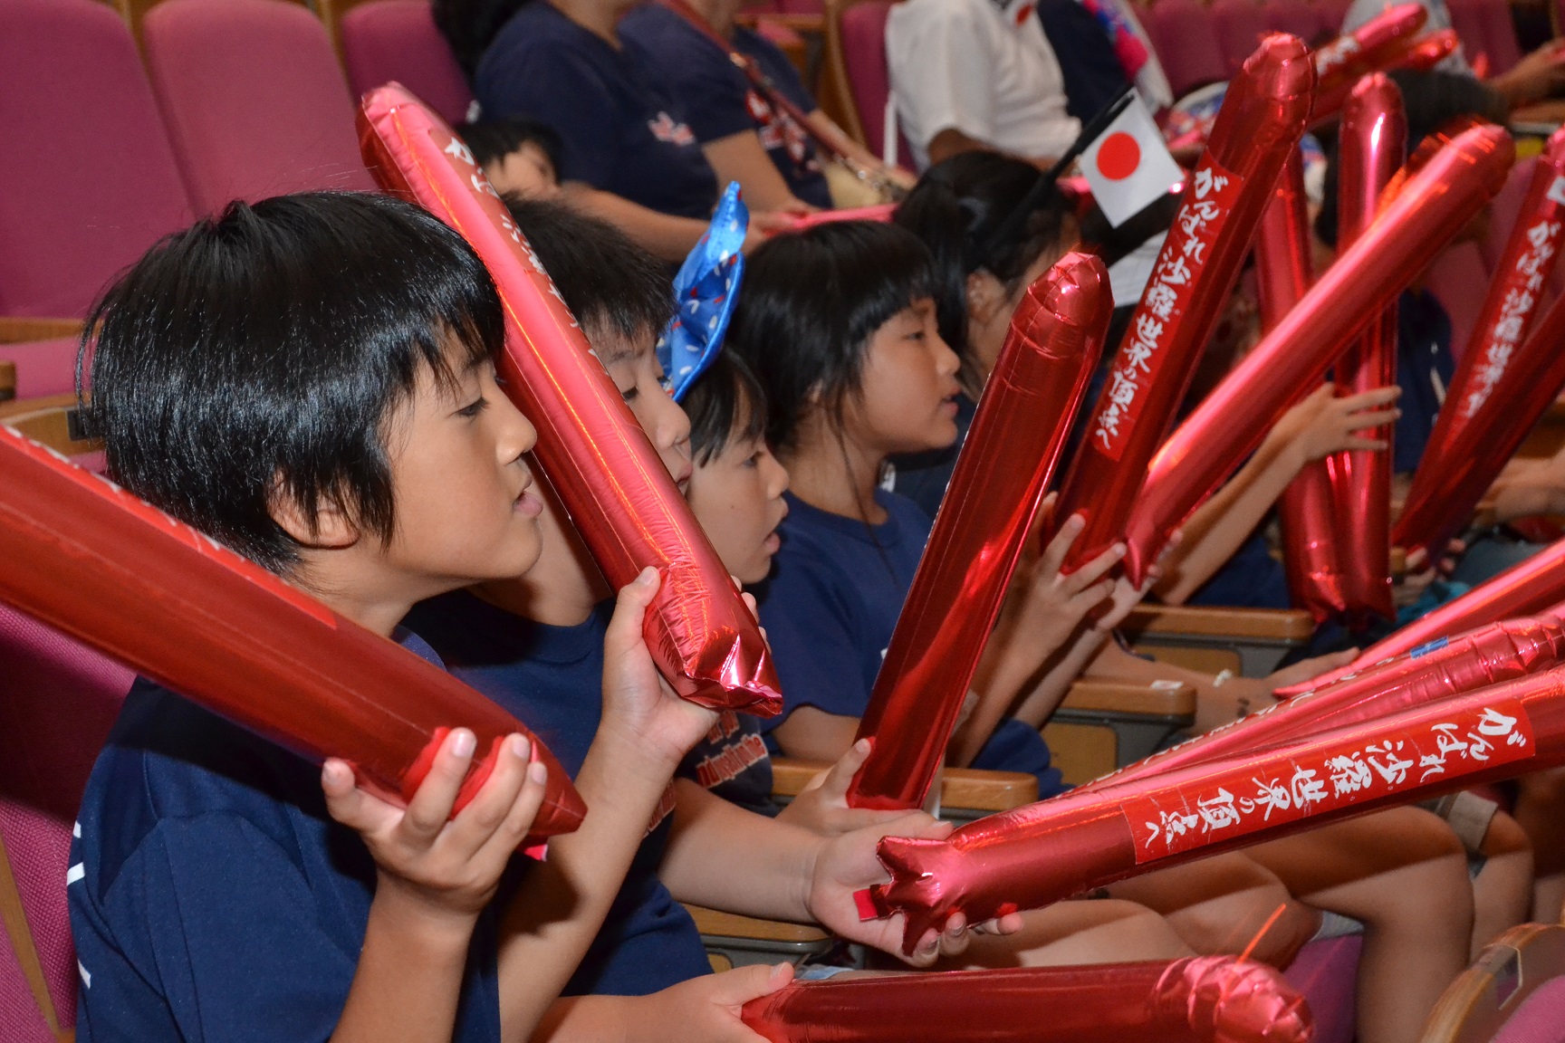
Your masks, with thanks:
M 934 970 L 1130 963 L 1191 955 L 1161 916 L 1133 902 L 1056 902 L 1028 910 L 1022 919 L 1020 932 L 975 935 L 967 952 L 937 963 Z

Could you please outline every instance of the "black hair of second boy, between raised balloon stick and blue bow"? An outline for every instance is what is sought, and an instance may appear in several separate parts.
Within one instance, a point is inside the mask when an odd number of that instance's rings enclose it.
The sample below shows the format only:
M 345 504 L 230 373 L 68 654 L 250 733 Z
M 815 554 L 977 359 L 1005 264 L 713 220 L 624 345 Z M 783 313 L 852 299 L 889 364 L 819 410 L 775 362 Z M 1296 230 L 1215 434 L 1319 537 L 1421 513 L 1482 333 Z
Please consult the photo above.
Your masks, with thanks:
M 675 314 L 673 277 L 623 231 L 568 203 L 509 194 L 505 206 L 588 336 L 656 336 L 668 325 Z

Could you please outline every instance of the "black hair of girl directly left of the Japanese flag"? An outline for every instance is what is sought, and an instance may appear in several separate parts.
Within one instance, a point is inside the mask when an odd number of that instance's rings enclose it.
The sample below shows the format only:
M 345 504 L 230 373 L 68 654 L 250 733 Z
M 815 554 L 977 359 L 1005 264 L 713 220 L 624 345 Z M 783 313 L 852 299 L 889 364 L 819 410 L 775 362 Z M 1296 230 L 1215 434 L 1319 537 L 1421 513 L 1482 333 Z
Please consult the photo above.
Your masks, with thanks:
M 967 358 L 967 277 L 984 271 L 1014 291 L 1027 269 L 1058 250 L 1070 213 L 1050 192 L 1014 231 L 994 241 L 1042 177 L 1030 163 L 995 152 L 962 152 L 923 172 L 892 216 L 934 255 L 934 311 L 941 339 Z

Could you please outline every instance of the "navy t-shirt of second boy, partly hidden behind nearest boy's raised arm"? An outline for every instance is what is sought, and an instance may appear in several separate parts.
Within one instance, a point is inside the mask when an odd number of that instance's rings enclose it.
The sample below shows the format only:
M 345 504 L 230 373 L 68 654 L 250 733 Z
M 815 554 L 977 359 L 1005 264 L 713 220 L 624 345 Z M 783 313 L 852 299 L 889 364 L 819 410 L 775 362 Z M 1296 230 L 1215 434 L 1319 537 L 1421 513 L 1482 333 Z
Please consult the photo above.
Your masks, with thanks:
M 603 718 L 603 636 L 613 602 L 576 627 L 549 627 L 466 591 L 421 602 L 407 618 L 451 672 L 527 722 L 576 777 Z M 712 968 L 695 923 L 657 879 L 673 819 L 642 841 L 567 996 L 645 996 Z

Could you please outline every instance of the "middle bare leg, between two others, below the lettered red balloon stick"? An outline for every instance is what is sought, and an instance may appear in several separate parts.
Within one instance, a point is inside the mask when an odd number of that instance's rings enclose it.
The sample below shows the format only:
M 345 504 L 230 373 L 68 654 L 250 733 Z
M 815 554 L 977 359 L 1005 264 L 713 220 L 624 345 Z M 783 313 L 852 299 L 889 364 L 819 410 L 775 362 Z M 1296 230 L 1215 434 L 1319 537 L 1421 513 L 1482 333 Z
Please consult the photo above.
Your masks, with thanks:
M 1114 898 L 1158 912 L 1196 952 L 1250 955 L 1285 966 L 1321 926 L 1269 869 L 1241 852 L 1158 869 L 1108 885 Z

